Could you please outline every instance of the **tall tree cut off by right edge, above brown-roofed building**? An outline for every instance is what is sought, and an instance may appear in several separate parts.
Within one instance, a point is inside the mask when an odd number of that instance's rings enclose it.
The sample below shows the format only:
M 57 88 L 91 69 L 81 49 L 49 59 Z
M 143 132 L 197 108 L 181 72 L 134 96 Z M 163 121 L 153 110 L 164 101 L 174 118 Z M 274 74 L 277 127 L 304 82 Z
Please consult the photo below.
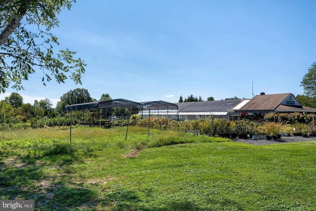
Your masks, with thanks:
M 316 63 L 314 62 L 304 75 L 301 86 L 307 96 L 316 96 Z

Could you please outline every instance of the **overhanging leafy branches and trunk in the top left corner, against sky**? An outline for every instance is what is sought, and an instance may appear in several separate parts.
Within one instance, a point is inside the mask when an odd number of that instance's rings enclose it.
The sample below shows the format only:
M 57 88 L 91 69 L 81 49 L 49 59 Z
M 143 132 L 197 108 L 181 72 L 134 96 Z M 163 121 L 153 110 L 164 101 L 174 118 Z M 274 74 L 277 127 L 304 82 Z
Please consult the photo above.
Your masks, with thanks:
M 86 65 L 68 48 L 54 50 L 59 42 L 50 33 L 58 27 L 57 15 L 75 1 L 0 0 L 0 92 L 11 83 L 15 89 L 23 89 L 22 81 L 35 70 L 43 71 L 44 85 L 52 78 L 58 83 L 70 78 L 81 84 Z

